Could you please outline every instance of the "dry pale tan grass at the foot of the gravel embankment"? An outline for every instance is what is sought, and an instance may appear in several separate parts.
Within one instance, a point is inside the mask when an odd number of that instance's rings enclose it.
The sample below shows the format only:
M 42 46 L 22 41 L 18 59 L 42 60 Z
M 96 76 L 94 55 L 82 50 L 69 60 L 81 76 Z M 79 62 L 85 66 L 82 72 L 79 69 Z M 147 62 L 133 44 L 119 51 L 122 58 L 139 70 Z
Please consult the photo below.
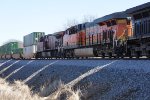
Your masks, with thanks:
M 79 94 L 61 81 L 43 86 L 40 93 L 35 94 L 21 81 L 11 84 L 0 78 L 0 100 L 80 100 Z

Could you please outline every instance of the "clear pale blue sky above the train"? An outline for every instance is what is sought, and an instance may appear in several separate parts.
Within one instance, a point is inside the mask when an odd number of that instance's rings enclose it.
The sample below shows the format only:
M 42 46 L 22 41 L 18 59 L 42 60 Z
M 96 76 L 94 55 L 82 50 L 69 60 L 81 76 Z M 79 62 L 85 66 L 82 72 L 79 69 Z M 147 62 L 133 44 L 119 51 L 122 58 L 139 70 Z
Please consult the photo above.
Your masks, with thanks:
M 149 0 L 0 0 L 0 45 L 31 32 L 64 30 L 68 20 L 102 17 Z

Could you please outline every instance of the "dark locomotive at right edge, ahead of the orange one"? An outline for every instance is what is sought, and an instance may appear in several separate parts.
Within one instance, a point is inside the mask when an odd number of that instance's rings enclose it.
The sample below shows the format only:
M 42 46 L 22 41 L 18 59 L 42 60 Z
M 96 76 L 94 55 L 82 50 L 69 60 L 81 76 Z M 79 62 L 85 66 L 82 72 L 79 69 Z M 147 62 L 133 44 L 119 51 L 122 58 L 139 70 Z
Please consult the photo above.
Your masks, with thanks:
M 150 58 L 150 2 L 127 9 L 126 13 L 133 23 L 133 35 L 128 40 L 129 56 Z

